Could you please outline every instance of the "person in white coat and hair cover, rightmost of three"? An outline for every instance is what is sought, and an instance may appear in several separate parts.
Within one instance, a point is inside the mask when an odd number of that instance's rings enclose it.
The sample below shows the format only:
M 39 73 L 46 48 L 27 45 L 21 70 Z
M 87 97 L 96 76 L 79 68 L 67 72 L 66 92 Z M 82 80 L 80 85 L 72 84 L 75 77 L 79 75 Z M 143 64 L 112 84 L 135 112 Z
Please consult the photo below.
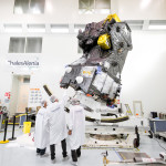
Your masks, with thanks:
M 77 165 L 77 157 L 81 156 L 81 145 L 84 144 L 85 137 L 85 114 L 84 108 L 76 98 L 71 102 L 69 116 L 69 143 L 71 146 L 72 162 Z

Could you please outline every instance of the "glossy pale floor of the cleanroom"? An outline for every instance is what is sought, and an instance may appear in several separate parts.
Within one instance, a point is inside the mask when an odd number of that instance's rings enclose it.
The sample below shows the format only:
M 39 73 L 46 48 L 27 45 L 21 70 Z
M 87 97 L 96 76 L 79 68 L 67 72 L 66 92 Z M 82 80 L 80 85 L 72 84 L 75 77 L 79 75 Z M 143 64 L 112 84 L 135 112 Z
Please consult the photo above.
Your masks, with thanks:
M 22 139 L 22 129 L 15 127 L 15 136 L 18 141 L 10 142 L 8 144 L 0 144 L 0 166 L 51 166 L 50 156 L 46 158 L 40 158 L 35 156 L 35 147 L 33 144 L 24 144 Z M 11 126 L 8 128 L 7 138 L 11 137 Z M 0 141 L 3 139 L 3 132 L 0 133 Z M 159 141 L 160 145 L 166 148 L 166 143 Z M 136 149 L 115 149 L 110 148 L 110 160 L 121 160 L 121 157 L 116 154 L 118 151 L 136 152 Z M 49 147 L 46 149 L 49 153 Z M 70 155 L 70 149 L 68 151 Z M 82 157 L 79 159 L 79 166 L 103 166 L 103 156 L 101 155 L 105 149 L 82 149 Z M 151 157 L 157 158 L 158 154 L 164 152 L 159 147 L 155 139 L 151 139 L 147 136 L 141 137 L 139 151 L 147 153 Z M 61 146 L 56 147 L 56 166 L 70 166 L 70 160 L 62 162 Z M 120 165 L 120 164 L 118 164 Z

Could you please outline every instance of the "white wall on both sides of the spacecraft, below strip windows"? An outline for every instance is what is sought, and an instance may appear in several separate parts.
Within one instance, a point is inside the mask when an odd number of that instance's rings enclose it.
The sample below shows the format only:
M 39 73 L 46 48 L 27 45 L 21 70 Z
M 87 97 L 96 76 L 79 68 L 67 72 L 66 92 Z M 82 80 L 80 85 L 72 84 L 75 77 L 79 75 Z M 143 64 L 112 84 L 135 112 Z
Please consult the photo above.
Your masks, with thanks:
M 30 34 L 25 34 L 28 35 Z M 4 92 L 11 91 L 12 72 L 18 72 L 7 63 L 12 56 L 8 53 L 10 37 L 17 34 L 0 34 L 1 98 L 4 97 Z M 43 38 L 42 53 L 35 54 L 40 59 L 40 68 L 32 71 L 21 69 L 19 72 L 31 75 L 30 89 L 41 89 L 43 97 L 48 98 L 42 89 L 43 84 L 48 84 L 52 92 L 62 98 L 64 91 L 60 89 L 59 83 L 65 65 L 81 56 L 77 53 L 76 34 L 44 33 L 38 37 Z M 122 72 L 121 102 L 128 103 L 133 110 L 133 101 L 142 101 L 146 116 L 151 111 L 166 111 L 166 31 L 133 31 L 132 39 L 133 50 L 128 53 Z M 30 59 L 33 54 L 13 55 Z M 29 103 L 29 106 L 32 104 Z

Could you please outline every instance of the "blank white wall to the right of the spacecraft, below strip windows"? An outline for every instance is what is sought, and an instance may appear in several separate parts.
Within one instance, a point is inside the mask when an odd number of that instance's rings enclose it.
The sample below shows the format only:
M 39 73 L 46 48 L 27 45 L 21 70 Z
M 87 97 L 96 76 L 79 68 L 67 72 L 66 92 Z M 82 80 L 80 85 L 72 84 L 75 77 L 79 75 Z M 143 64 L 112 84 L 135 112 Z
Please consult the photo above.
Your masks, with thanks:
M 122 73 L 121 101 L 142 101 L 149 112 L 166 113 L 166 31 L 133 31 L 133 50 Z

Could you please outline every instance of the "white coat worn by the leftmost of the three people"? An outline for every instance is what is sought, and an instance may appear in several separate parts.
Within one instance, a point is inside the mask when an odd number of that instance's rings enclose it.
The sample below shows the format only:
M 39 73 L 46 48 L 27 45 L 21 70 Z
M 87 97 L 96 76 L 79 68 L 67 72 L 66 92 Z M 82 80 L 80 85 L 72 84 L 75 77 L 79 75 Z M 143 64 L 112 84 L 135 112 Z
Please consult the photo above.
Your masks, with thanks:
M 44 125 L 46 112 L 46 108 L 40 108 L 35 120 L 34 145 L 40 149 L 43 149 L 49 145 L 49 129 Z

